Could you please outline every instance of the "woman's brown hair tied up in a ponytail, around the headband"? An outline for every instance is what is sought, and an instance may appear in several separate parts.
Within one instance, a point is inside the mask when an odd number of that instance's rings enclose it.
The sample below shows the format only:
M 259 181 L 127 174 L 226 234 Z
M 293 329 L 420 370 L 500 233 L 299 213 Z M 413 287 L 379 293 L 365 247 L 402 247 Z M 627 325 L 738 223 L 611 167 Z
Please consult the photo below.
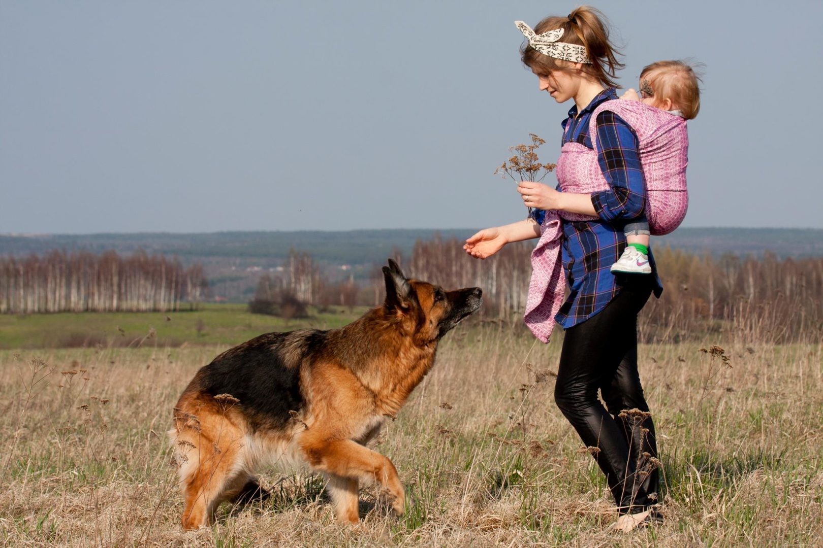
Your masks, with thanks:
M 617 61 L 621 53 L 609 41 L 609 25 L 602 12 L 589 6 L 577 7 L 567 17 L 546 17 L 537 23 L 534 32 L 542 35 L 556 29 L 563 29 L 561 42 L 585 46 L 592 62 L 580 69 L 584 74 L 606 87 L 618 87 L 614 79 L 616 71 L 623 68 L 623 63 Z M 520 48 L 520 58 L 537 74 L 547 76 L 551 71 L 569 70 L 569 62 L 543 55 L 528 42 Z

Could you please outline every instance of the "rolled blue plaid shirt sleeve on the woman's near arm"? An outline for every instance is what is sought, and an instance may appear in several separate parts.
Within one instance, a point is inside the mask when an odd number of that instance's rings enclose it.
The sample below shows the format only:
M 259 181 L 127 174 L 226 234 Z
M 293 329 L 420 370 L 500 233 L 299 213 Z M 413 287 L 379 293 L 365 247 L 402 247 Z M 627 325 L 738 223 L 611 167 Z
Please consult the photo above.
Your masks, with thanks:
M 597 115 L 597 162 L 611 189 L 593 192 L 597 216 L 607 223 L 635 219 L 646 205 L 646 181 L 635 131 L 611 111 Z

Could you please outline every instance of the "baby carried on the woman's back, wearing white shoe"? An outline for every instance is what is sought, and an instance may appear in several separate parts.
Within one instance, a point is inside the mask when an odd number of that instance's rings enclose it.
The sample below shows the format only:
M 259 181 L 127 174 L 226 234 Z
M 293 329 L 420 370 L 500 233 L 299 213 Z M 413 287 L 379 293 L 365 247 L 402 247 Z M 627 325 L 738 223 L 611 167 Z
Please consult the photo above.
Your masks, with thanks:
M 686 62 L 653 62 L 640 73 L 639 95 L 635 90 L 627 90 L 621 99 L 641 101 L 681 118 L 672 125 L 676 130 L 667 131 L 667 136 L 655 136 L 654 142 L 641 140 L 640 143 L 647 186 L 646 214 L 656 217 L 653 219 L 655 234 L 672 232 L 686 215 L 686 151 L 689 147 L 686 120 L 697 116 L 700 110 L 699 78 Z M 651 274 L 646 214 L 625 224 L 627 245 L 620 259 L 611 265 L 611 272 Z

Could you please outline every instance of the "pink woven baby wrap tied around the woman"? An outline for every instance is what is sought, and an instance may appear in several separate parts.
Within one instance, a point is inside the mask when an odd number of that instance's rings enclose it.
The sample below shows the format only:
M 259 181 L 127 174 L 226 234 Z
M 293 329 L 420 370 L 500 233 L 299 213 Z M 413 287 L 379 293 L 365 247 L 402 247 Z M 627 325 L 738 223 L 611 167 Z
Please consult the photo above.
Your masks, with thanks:
M 640 163 L 646 179 L 646 219 L 650 232 L 660 236 L 683 222 L 689 205 L 686 192 L 686 163 L 689 138 L 686 120 L 639 101 L 611 100 L 594 109 L 589 136 L 594 150 L 579 143 L 566 143 L 557 161 L 557 180 L 564 192 L 591 194 L 609 190 L 597 163 L 597 114 L 610 110 L 635 130 Z M 532 279 L 528 285 L 524 320 L 528 329 L 544 343 L 549 342 L 555 315 L 564 301 L 565 282 L 560 264 L 560 223 L 593 220 L 597 217 L 546 211 L 541 237 L 532 251 Z

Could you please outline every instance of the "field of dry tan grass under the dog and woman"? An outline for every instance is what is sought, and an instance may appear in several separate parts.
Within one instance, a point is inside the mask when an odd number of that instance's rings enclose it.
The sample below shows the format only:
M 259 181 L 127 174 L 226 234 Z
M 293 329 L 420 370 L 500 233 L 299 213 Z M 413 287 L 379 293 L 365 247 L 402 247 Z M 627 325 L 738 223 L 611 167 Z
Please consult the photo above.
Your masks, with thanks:
M 223 348 L 2 351 L 0 545 L 820 546 L 821 343 L 640 348 L 666 523 L 617 536 L 606 483 L 553 401 L 560 344 L 532 341 L 491 323 L 446 338 L 373 442 L 407 487 L 403 518 L 367 487 L 360 525 L 338 525 L 319 478 L 267 469 L 271 500 L 224 504 L 198 532 L 179 528 L 165 431 Z

